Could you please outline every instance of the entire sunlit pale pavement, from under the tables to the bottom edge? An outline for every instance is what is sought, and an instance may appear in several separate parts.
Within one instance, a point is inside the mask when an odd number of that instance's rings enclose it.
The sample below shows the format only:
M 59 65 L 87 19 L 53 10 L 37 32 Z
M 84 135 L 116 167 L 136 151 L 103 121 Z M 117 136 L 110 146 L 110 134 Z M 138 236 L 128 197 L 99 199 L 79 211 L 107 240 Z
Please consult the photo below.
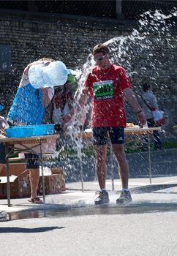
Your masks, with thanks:
M 0 200 L 1 255 L 170 256 L 177 253 L 177 176 L 130 178 L 132 203 L 116 205 L 120 180 L 107 181 L 110 203 L 95 206 L 97 181 L 67 184 L 46 195 L 43 205 L 28 198 Z

